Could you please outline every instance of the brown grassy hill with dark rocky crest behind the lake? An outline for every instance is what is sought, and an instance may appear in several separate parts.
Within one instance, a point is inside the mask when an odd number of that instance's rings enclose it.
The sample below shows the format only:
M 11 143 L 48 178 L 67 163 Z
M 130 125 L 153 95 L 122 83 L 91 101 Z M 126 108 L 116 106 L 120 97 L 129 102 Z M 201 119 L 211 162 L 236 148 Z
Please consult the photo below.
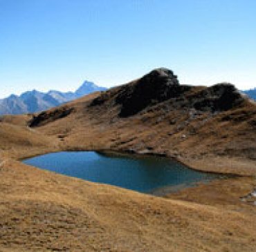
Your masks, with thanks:
M 255 104 L 231 84 L 182 86 L 162 68 L 30 125 L 58 136 L 65 149 L 161 153 L 205 171 L 256 172 Z

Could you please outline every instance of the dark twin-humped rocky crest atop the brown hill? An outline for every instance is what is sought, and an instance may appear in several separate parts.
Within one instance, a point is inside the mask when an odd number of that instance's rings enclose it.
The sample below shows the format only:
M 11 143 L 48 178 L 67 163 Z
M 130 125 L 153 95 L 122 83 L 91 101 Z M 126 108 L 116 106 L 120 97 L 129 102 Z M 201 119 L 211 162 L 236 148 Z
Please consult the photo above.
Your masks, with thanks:
M 91 106 L 118 105 L 119 117 L 129 117 L 163 101 L 174 110 L 194 108 L 214 113 L 239 106 L 244 99 L 232 84 L 221 83 L 209 88 L 180 85 L 171 70 L 158 68 L 129 84 L 102 93 L 93 99 Z

